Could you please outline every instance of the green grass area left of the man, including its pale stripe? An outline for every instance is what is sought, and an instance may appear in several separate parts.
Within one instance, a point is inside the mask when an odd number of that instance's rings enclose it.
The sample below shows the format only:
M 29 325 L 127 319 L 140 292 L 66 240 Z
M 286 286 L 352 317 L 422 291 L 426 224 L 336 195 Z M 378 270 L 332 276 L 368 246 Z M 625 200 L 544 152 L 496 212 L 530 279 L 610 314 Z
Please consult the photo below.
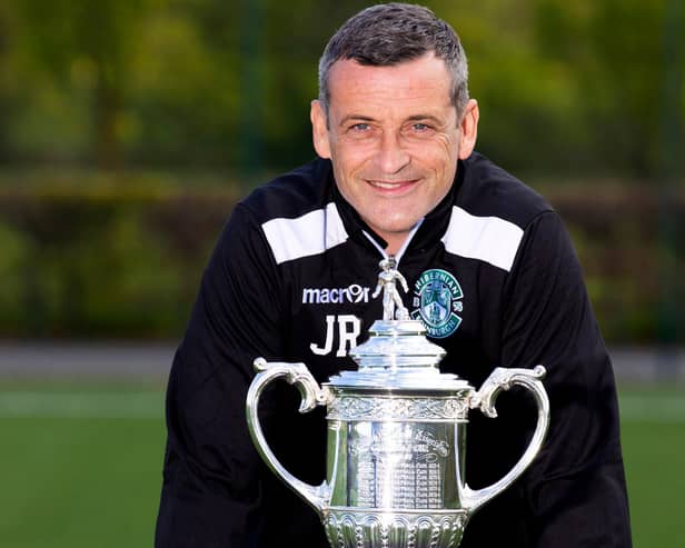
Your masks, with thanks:
M 0 395 L 0 546 L 152 546 L 161 389 L 22 387 Z

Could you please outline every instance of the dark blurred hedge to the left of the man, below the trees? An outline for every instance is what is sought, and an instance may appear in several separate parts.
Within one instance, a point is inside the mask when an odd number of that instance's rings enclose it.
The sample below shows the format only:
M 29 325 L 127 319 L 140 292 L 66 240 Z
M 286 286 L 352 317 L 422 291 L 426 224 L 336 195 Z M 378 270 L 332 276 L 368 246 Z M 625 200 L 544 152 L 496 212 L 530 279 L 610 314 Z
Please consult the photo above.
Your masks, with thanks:
M 87 181 L 0 195 L 0 335 L 178 336 L 235 189 Z

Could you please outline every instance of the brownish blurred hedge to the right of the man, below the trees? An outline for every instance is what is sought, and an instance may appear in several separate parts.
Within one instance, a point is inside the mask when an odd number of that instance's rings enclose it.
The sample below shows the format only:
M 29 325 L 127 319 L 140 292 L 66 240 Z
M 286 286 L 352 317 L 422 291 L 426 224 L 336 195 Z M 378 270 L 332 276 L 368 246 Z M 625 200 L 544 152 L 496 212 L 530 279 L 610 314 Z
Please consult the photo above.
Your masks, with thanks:
M 665 240 L 666 216 L 682 219 L 685 195 L 663 198 L 646 185 L 622 187 L 609 181 L 547 188 L 552 205 L 567 223 L 584 268 L 587 288 L 604 337 L 612 342 L 673 343 L 684 340 L 685 226 Z M 676 315 L 666 318 L 664 302 Z M 663 332 L 664 322 L 676 333 Z

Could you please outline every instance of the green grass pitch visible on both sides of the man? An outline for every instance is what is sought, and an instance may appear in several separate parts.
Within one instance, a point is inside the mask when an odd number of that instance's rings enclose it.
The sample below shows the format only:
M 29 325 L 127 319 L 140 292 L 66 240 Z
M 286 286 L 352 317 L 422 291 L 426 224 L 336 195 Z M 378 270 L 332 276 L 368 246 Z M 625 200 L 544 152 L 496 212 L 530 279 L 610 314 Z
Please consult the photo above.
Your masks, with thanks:
M 0 386 L 0 546 L 151 546 L 162 401 L 159 387 Z M 626 388 L 622 410 L 635 547 L 679 547 L 685 391 Z

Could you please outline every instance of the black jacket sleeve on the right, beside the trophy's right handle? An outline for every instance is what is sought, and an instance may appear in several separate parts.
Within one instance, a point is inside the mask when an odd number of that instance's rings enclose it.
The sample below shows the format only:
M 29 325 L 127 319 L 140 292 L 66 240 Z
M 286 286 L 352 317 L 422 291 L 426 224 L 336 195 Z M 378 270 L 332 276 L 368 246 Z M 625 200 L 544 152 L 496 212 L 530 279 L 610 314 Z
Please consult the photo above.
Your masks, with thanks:
M 558 216 L 524 232 L 505 287 L 505 367 L 542 363 L 546 442 L 524 482 L 534 546 L 632 546 L 612 365 Z

